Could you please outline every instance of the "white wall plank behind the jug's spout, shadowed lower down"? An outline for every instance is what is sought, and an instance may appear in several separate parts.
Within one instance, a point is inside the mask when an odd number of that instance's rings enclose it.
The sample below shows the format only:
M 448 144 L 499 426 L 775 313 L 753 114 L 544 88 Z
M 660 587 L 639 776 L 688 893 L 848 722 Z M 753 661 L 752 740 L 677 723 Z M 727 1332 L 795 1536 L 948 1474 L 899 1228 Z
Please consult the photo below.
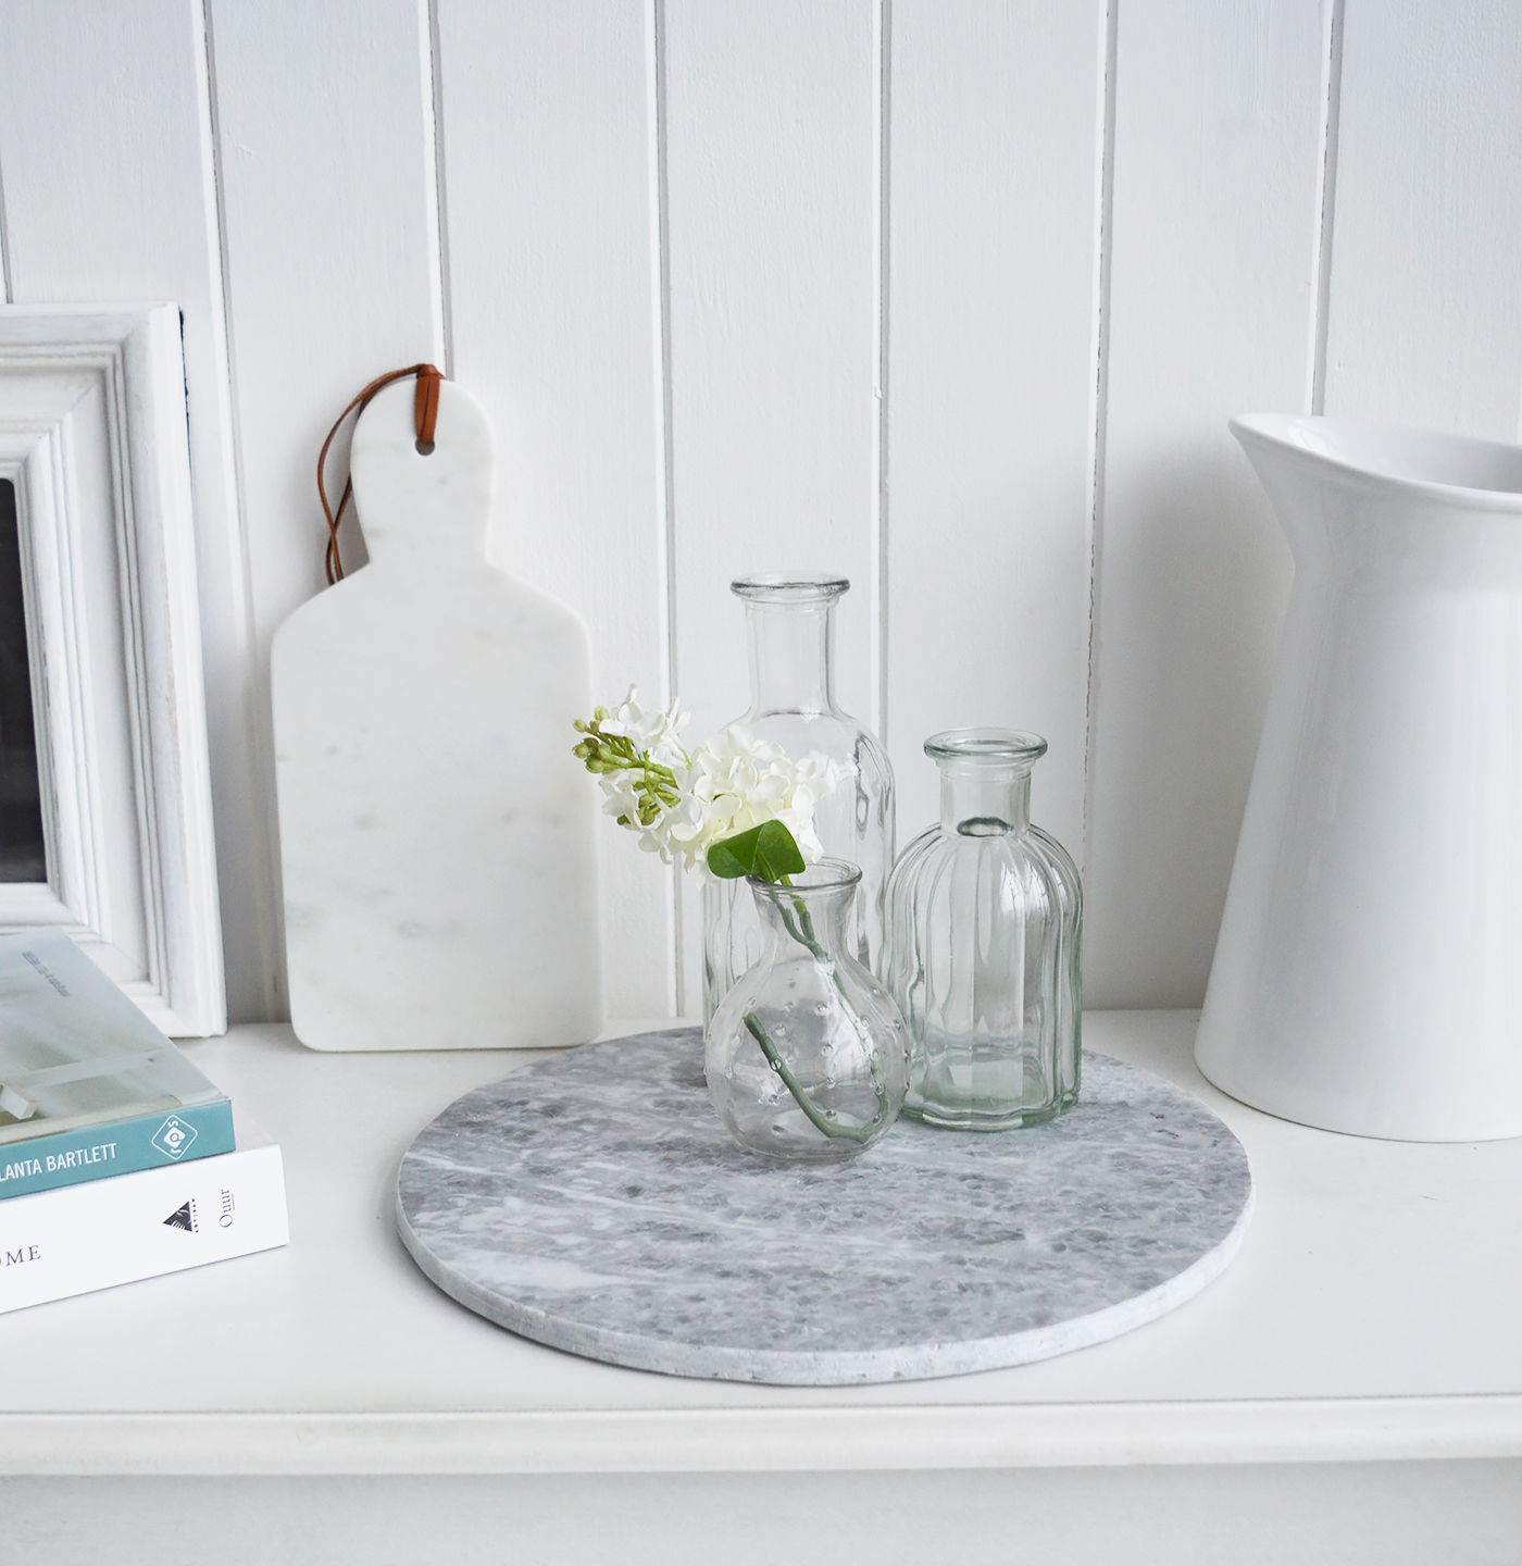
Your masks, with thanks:
M 1204 993 L 1289 581 L 1226 432 L 1307 385 L 1318 6 L 1124 0 L 1085 999 Z

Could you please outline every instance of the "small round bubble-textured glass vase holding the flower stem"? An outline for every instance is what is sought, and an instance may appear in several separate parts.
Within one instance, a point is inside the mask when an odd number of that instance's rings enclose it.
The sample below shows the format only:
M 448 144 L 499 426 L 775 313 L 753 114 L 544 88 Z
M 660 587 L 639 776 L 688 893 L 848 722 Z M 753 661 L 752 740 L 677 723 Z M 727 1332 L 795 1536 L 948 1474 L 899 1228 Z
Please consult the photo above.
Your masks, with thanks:
M 899 1118 L 910 1035 L 891 996 L 855 960 L 861 872 L 819 860 L 791 885 L 741 883 L 764 938 L 703 1034 L 719 1118 L 753 1153 L 838 1164 Z

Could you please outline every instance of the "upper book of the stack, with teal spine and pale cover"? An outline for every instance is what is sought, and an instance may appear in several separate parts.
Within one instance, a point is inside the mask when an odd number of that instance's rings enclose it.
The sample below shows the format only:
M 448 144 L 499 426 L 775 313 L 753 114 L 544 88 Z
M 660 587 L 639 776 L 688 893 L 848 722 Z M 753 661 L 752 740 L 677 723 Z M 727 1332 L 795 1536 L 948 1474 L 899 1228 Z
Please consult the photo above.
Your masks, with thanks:
M 227 1096 L 67 935 L 0 936 L 0 1200 L 232 1149 Z

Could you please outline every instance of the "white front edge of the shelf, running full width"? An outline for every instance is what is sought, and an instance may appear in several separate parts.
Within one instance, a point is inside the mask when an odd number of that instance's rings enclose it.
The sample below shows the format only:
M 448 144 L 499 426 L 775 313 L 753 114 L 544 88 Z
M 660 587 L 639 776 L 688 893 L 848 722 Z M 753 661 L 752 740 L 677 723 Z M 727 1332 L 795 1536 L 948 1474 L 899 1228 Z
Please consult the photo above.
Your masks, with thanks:
M 0 1414 L 0 1475 L 681 1474 L 1522 1456 L 1522 1395 L 479 1414 Z

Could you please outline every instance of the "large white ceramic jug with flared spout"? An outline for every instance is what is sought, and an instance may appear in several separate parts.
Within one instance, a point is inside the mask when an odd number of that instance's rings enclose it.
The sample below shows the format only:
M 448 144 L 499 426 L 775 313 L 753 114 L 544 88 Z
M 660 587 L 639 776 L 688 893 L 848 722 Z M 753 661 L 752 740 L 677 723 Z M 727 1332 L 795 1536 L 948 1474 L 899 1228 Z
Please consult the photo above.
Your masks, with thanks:
M 1295 586 L 1199 1070 L 1331 1131 L 1522 1135 L 1522 448 L 1231 429 Z

